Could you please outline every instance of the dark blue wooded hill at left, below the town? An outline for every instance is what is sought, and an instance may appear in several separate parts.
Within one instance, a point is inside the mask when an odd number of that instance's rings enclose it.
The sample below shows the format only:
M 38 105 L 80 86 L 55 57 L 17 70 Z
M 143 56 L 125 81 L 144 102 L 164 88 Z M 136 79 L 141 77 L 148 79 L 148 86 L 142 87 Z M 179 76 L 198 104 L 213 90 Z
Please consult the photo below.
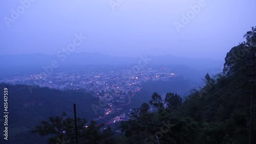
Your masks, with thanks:
M 8 142 L 10 143 L 46 143 L 47 139 L 34 137 L 36 135 L 30 133 L 31 129 L 41 121 L 48 120 L 48 117 L 58 116 L 62 112 L 66 112 L 69 117 L 74 117 L 74 103 L 77 105 L 77 116 L 86 118 L 88 121 L 103 113 L 100 110 L 97 114 L 94 113 L 91 105 L 98 104 L 99 100 L 82 91 L 34 87 L 30 92 L 26 85 L 0 84 L 1 90 L 4 87 L 8 88 Z M 4 108 L 4 103 L 0 106 Z M 3 124 L 2 121 L 0 123 Z M 3 139 L 1 138 L 1 141 Z

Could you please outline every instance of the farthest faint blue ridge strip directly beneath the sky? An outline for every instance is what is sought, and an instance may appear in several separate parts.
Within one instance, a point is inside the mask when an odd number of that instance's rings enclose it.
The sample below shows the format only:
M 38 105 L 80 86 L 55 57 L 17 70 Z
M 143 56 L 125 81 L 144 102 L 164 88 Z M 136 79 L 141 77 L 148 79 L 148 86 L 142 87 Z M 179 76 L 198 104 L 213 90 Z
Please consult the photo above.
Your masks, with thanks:
M 1 66 L 5 65 L 46 65 L 51 61 L 56 60 L 59 64 L 138 64 L 143 58 L 148 60 L 148 64 L 177 64 L 177 65 L 189 65 L 191 67 L 196 66 L 219 66 L 223 65 L 224 61 L 213 60 L 206 58 L 185 58 L 177 57 L 173 55 L 141 55 L 141 57 L 124 57 L 124 56 L 111 56 L 102 53 L 71 53 L 69 56 L 62 55 L 47 55 L 47 54 L 30 54 L 30 55 L 2 55 L 0 56 Z M 144 64 L 144 63 L 143 63 Z

